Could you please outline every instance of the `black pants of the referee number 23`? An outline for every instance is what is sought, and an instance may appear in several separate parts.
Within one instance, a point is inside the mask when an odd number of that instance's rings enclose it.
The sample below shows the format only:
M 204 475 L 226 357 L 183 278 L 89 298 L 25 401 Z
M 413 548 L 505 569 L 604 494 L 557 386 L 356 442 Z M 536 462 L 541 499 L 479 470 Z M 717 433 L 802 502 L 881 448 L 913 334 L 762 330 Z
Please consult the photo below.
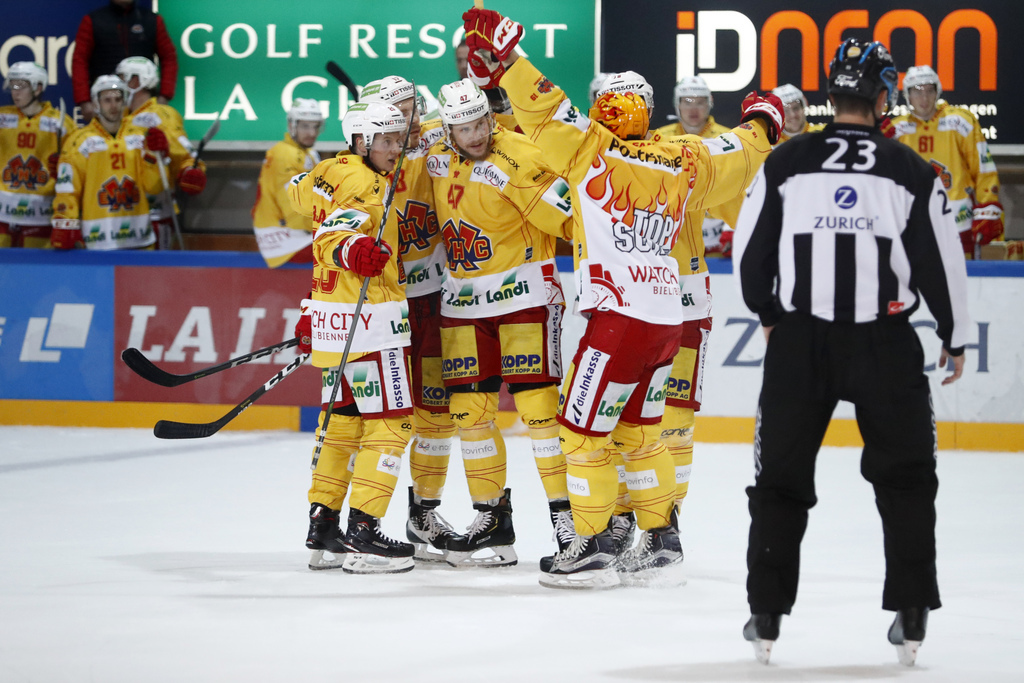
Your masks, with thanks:
M 905 317 L 866 324 L 786 314 L 765 356 L 750 499 L 746 594 L 752 613 L 788 614 L 800 543 L 817 502 L 814 465 L 839 400 L 856 407 L 861 474 L 885 535 L 882 608 L 938 608 L 936 435 L 924 352 Z

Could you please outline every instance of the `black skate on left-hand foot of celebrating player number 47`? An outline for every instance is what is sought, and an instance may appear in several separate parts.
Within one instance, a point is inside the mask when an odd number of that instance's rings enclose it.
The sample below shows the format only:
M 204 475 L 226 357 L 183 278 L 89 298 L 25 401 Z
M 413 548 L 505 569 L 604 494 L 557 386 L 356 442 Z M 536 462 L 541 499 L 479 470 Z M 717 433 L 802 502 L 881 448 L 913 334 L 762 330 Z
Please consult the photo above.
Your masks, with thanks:
M 519 561 L 515 554 L 515 529 L 512 527 L 512 492 L 492 504 L 474 503 L 476 519 L 466 533 L 449 539 L 444 561 L 454 567 L 512 566 Z M 483 551 L 483 555 L 476 555 Z

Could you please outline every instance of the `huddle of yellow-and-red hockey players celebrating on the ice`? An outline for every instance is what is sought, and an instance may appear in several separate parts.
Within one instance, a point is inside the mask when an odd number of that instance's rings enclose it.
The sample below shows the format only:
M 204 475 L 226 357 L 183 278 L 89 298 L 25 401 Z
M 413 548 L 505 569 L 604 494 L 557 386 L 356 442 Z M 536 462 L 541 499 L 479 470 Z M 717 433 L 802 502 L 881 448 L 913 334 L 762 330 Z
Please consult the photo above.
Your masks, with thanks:
M 504 382 L 557 543 L 541 584 L 643 583 L 683 559 L 677 507 L 711 330 L 701 223 L 740 201 L 779 138 L 782 102 L 751 93 L 742 123 L 711 138 L 649 134 L 653 91 L 638 75 L 609 76 L 585 114 L 516 53 L 520 25 L 480 9 L 464 19 L 469 78 L 440 88 L 439 122 L 421 124 L 410 81 L 371 83 L 344 118 L 349 148 L 289 186 L 315 228 L 297 333 L 323 369 L 328 423 L 310 567 L 514 564 L 495 422 Z M 512 115 L 492 112 L 484 90 L 499 83 Z M 564 372 L 558 238 L 572 244 L 572 305 L 587 318 Z M 463 533 L 437 514 L 456 435 L 476 511 Z M 380 519 L 411 439 L 402 543 Z

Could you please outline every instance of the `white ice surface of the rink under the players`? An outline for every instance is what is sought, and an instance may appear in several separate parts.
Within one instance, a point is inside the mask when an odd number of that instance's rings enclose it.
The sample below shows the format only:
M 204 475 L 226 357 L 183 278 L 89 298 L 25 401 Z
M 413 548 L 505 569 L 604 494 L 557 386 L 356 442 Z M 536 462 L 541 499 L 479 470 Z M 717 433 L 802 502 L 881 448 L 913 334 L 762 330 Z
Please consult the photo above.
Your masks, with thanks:
M 0 681 L 1021 681 L 1024 457 L 942 453 L 939 582 L 919 666 L 882 611 L 881 524 L 858 453 L 825 449 L 800 596 L 772 664 L 740 637 L 746 445 L 698 443 L 689 583 L 552 591 L 524 437 L 509 439 L 520 564 L 385 577 L 309 571 L 310 434 L 160 441 L 0 428 Z M 442 514 L 472 512 L 453 458 Z M 402 535 L 406 486 L 385 519 Z

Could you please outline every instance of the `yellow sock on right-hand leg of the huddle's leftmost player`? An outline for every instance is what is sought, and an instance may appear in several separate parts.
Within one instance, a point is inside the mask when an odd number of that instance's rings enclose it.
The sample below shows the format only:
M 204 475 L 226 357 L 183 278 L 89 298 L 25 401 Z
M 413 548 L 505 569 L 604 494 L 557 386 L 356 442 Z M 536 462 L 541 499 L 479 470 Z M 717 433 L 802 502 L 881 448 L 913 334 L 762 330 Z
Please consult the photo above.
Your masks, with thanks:
M 352 494 L 348 500 L 350 508 L 373 517 L 384 516 L 398 482 L 401 454 L 411 433 L 408 417 L 362 421 L 362 438 L 355 455 Z

